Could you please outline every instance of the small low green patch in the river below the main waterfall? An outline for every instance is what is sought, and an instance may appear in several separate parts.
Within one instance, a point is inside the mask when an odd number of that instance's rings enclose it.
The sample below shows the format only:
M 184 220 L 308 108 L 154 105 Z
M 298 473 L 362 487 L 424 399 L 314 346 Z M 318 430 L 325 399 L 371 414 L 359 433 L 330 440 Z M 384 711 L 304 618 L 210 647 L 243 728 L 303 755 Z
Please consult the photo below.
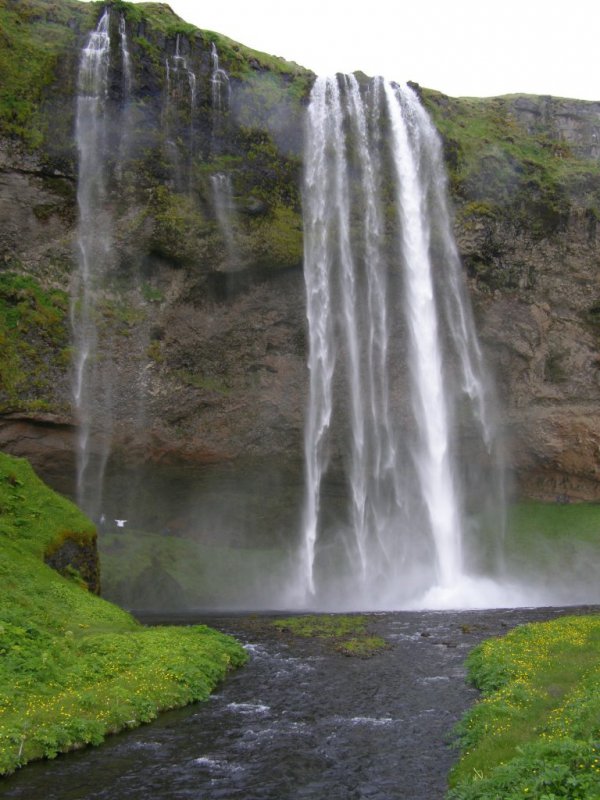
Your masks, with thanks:
M 354 614 L 310 614 L 273 622 L 282 633 L 327 639 L 338 653 L 358 658 L 369 658 L 388 648 L 381 636 L 369 634 L 367 624 L 367 617 Z

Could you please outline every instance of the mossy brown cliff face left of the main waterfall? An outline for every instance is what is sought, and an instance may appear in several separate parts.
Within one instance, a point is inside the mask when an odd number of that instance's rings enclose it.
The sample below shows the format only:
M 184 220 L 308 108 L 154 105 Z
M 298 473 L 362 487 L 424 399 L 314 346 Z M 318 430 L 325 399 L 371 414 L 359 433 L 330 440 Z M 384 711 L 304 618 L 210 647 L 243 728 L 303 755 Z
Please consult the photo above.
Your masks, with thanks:
M 0 310 L 10 356 L 0 446 L 55 480 L 73 474 L 76 435 L 68 293 L 81 236 L 78 64 L 104 7 L 0 4 L 9 44 L 32 54 L 38 75 L 22 88 L 20 117 L 0 102 Z M 97 411 L 106 418 L 110 403 L 115 458 L 299 454 L 299 175 L 312 75 L 198 31 L 168 6 L 110 7 L 107 197 L 97 218 L 109 252 L 94 313 L 99 359 L 110 359 L 113 378 Z M 3 83 L 16 92 L 11 63 Z M 100 442 L 106 431 L 92 436 Z

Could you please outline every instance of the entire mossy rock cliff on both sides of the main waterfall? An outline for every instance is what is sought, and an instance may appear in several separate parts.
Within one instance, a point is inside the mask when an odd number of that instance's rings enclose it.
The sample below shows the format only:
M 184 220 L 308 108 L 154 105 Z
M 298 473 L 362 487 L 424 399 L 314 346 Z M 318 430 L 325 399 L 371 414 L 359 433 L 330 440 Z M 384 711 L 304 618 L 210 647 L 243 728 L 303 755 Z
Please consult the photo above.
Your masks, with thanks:
M 300 462 L 300 174 L 312 75 L 198 31 L 168 7 L 111 7 L 113 246 L 97 325 L 114 370 L 114 457 Z M 0 447 L 65 489 L 75 451 L 75 95 L 100 11 L 74 0 L 59 9 L 0 2 L 5 52 L 25 53 L 35 76 L 21 86 L 10 59 L 0 61 L 0 335 L 9 356 Z M 219 96 L 215 52 L 229 80 Z M 457 240 L 518 487 L 596 498 L 600 104 L 422 98 L 445 143 Z

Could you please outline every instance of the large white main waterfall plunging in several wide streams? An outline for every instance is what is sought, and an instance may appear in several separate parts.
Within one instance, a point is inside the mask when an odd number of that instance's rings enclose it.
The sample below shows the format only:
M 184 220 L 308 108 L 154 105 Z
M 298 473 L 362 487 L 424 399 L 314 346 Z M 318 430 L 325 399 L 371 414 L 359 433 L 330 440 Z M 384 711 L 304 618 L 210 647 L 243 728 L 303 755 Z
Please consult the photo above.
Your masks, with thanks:
M 304 216 L 310 390 L 292 602 L 477 604 L 497 568 L 500 448 L 441 144 L 411 88 L 316 81 Z

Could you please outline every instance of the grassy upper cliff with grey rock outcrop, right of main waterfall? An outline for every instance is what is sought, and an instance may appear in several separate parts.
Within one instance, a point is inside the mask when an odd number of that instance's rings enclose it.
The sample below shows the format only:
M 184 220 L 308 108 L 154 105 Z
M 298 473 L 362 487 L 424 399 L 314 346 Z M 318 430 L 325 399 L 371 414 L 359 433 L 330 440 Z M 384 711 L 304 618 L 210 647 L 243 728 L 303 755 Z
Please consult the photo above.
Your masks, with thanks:
M 551 233 L 575 205 L 600 209 L 600 104 L 507 95 L 450 98 L 420 90 L 444 140 L 450 188 L 462 213 L 510 215 Z

